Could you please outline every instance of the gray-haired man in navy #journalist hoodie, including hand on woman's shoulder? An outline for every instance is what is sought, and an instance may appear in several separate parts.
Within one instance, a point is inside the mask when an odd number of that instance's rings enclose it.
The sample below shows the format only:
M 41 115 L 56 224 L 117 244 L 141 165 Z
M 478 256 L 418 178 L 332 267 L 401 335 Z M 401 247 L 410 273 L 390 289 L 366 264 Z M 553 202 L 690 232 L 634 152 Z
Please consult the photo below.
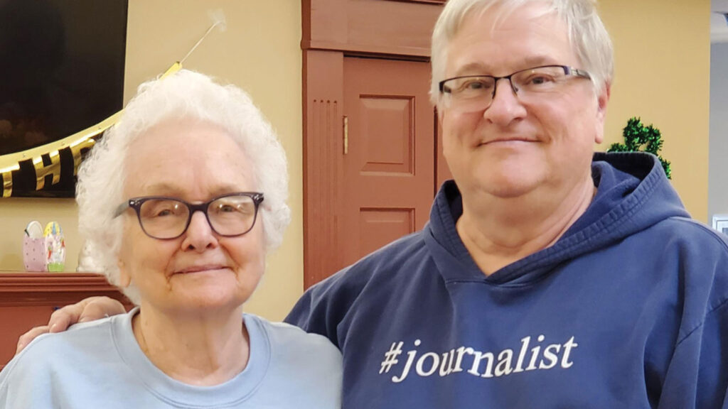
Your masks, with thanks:
M 728 243 L 653 156 L 592 157 L 593 1 L 451 0 L 432 73 L 454 182 L 430 223 L 287 319 L 341 349 L 344 407 L 728 408 Z

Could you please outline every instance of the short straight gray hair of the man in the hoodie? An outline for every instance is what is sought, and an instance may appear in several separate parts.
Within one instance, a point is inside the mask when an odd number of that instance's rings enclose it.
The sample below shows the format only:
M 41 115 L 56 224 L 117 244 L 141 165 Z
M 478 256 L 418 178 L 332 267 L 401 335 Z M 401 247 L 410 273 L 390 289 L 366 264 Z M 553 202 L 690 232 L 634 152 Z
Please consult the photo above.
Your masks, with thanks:
M 614 51 L 609 33 L 598 15 L 596 0 L 449 0 L 432 32 L 432 103 L 438 105 L 440 102 L 438 83 L 445 79 L 448 44 L 459 33 L 468 16 L 482 14 L 490 7 L 501 5 L 497 21 L 508 12 L 534 2 L 547 5 L 547 12 L 555 13 L 566 23 L 569 41 L 582 64 L 579 68 L 589 72 L 594 90 L 601 92 L 606 84 L 611 84 Z

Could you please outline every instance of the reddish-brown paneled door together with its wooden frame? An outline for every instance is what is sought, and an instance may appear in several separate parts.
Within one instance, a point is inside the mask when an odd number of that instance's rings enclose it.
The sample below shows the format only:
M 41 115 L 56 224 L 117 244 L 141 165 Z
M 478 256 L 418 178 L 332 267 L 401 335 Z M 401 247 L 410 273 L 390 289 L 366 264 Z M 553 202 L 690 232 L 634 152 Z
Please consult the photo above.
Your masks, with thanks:
M 427 220 L 449 174 L 427 98 L 444 2 L 301 0 L 304 288 Z

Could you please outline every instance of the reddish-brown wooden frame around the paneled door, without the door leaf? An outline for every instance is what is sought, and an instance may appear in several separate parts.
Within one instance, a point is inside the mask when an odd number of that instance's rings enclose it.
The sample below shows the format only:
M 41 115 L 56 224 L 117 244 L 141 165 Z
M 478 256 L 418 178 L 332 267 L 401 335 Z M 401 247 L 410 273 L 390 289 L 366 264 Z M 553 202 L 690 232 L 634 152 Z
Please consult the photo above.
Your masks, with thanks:
M 445 0 L 301 0 L 304 290 L 341 265 L 344 57 L 430 61 Z M 406 22 L 403 24 L 403 22 Z

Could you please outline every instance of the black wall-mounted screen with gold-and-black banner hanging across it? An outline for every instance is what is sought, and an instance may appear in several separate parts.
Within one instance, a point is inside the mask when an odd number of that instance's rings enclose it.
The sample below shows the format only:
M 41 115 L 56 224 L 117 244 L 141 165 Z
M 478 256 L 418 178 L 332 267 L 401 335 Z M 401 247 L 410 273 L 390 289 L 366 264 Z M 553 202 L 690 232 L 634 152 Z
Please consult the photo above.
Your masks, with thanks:
M 88 146 L 68 135 L 124 102 L 127 3 L 0 1 L 2 197 L 74 196 Z

